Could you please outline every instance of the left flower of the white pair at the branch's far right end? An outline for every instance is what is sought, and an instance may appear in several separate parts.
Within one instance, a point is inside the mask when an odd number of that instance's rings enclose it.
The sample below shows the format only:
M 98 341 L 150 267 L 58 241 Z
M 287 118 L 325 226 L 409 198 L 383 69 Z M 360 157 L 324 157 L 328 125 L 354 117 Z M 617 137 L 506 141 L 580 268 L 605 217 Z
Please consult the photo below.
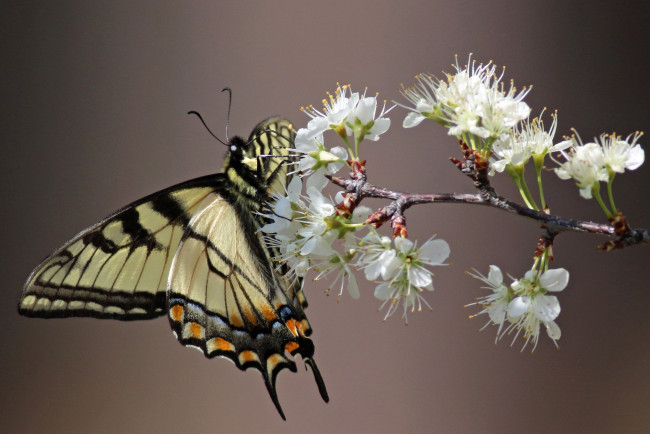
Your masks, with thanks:
M 591 199 L 596 185 L 609 179 L 605 155 L 597 143 L 575 146 L 569 152 L 562 152 L 562 155 L 566 162 L 555 168 L 555 173 L 560 179 L 574 179 L 583 198 Z

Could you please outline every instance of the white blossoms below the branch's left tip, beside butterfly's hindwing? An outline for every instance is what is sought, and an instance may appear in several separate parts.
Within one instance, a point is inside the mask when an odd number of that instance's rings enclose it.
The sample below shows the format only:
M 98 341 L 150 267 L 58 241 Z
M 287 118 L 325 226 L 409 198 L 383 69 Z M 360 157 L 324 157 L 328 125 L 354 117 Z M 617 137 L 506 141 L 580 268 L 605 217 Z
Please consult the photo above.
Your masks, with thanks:
M 374 294 L 388 304 L 384 319 L 400 304 L 402 317 L 429 304 L 422 297 L 424 290 L 433 291 L 432 272 L 425 266 L 443 265 L 450 249 L 446 241 L 430 239 L 418 248 L 407 238 L 391 240 L 380 236 L 363 222 L 371 210 L 359 206 L 348 215 L 337 215 L 336 204 L 317 188 L 300 194 L 302 183 L 295 177 L 287 187 L 287 196 L 277 197 L 263 216 L 269 221 L 261 228 L 269 245 L 281 253 L 274 258 L 289 266 L 290 280 L 304 278 L 309 270 L 314 280 L 331 278 L 338 285 L 338 295 L 347 289 L 352 298 L 359 298 L 355 271 L 363 271 L 367 280 L 377 284 Z M 359 237 L 359 229 L 368 233 Z

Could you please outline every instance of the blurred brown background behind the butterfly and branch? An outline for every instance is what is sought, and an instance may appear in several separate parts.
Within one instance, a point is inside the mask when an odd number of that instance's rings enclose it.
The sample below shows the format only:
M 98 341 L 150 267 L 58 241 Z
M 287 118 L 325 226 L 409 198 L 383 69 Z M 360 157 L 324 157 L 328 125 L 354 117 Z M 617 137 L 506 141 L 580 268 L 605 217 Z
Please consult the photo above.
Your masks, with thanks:
M 92 3 L 92 4 L 91 4 Z M 277 415 L 256 371 L 182 348 L 165 318 L 122 323 L 35 320 L 16 305 L 31 269 L 68 237 L 145 194 L 219 170 L 231 134 L 247 135 L 336 82 L 402 100 L 418 72 L 450 71 L 454 54 L 507 65 L 534 84 L 533 113 L 559 110 L 558 136 L 576 127 L 650 131 L 646 3 L 594 1 L 0 2 L 2 73 L 2 375 L 5 432 L 647 432 L 650 317 L 647 246 L 605 254 L 603 238 L 566 234 L 554 266 L 571 272 L 560 294 L 560 350 L 493 344 L 495 328 L 468 320 L 482 295 L 463 271 L 489 264 L 520 276 L 539 236 L 533 222 L 469 206 L 416 207 L 410 235 L 452 246 L 436 270 L 434 312 L 382 322 L 372 286 L 362 298 L 325 297 L 309 284 L 316 360 L 283 372 Z M 626 4 L 628 6 L 621 6 Z M 642 5 L 643 4 L 643 5 Z M 448 162 L 457 146 L 436 125 L 370 144 L 371 182 L 419 192 L 470 192 Z M 330 138 L 330 143 L 332 139 Z M 646 152 L 650 138 L 642 139 Z M 371 154 L 371 155 L 369 155 Z M 650 156 L 650 155 L 649 155 Z M 371 158 L 370 158 L 371 157 Z M 617 204 L 649 227 L 650 169 L 616 181 Z M 509 180 L 495 180 L 513 198 Z M 552 210 L 603 221 L 594 201 L 550 174 Z M 299 362 L 301 364 L 301 362 Z

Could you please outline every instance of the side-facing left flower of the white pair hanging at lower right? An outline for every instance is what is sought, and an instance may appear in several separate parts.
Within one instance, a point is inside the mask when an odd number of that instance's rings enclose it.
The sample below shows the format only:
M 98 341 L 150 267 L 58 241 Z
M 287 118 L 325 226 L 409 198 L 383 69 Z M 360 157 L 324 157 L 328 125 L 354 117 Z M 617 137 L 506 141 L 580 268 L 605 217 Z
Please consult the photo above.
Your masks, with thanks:
M 485 282 L 487 286 L 484 286 L 483 288 L 492 291 L 492 294 L 479 297 L 475 303 L 470 303 L 467 306 L 478 304 L 483 307 L 483 310 L 475 315 L 472 315 L 470 318 L 482 314 L 488 314 L 490 317 L 490 320 L 481 328 L 481 330 L 490 325 L 490 323 L 499 326 L 499 329 L 497 330 L 497 336 L 494 339 L 496 343 L 501 336 L 501 328 L 506 321 L 506 311 L 511 298 L 508 286 L 503 283 L 503 273 L 501 272 L 501 269 L 496 265 L 490 265 L 490 272 L 488 273 L 487 277 L 476 270 L 474 270 L 474 272 L 469 272 L 468 274 L 475 279 L 479 279 Z

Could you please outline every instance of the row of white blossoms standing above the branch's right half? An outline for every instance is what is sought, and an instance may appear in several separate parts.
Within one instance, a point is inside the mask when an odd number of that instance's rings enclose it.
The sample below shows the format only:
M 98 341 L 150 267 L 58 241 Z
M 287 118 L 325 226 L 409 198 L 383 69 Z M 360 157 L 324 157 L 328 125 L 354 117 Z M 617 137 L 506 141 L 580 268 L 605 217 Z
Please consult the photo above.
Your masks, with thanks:
M 478 64 L 471 59 L 461 67 L 458 59 L 456 73 L 447 74 L 446 80 L 430 74 L 416 76 L 417 83 L 402 87 L 402 94 L 411 106 L 403 126 L 410 128 L 425 119 L 432 119 L 448 129 L 450 135 L 468 143 L 489 159 L 489 174 L 506 172 L 519 188 L 522 199 L 532 209 L 546 209 L 542 188 L 542 170 L 546 155 L 559 152 L 563 162 L 555 173 L 561 179 L 573 179 L 586 199 L 595 196 L 601 208 L 611 217 L 616 207 L 611 193 L 611 183 L 616 173 L 635 170 L 644 161 L 644 152 L 634 133 L 622 139 L 616 134 L 602 134 L 593 142 L 583 144 L 579 136 L 554 143 L 557 130 L 557 113 L 552 115 L 550 127 L 545 129 L 542 115 L 529 119 L 530 108 L 523 101 L 531 88 L 517 92 L 510 84 L 506 91 L 503 72 L 496 74 L 496 66 L 489 62 Z M 524 170 L 532 159 L 537 172 L 539 202 L 533 197 Z M 608 183 L 610 208 L 598 194 L 601 182 Z

